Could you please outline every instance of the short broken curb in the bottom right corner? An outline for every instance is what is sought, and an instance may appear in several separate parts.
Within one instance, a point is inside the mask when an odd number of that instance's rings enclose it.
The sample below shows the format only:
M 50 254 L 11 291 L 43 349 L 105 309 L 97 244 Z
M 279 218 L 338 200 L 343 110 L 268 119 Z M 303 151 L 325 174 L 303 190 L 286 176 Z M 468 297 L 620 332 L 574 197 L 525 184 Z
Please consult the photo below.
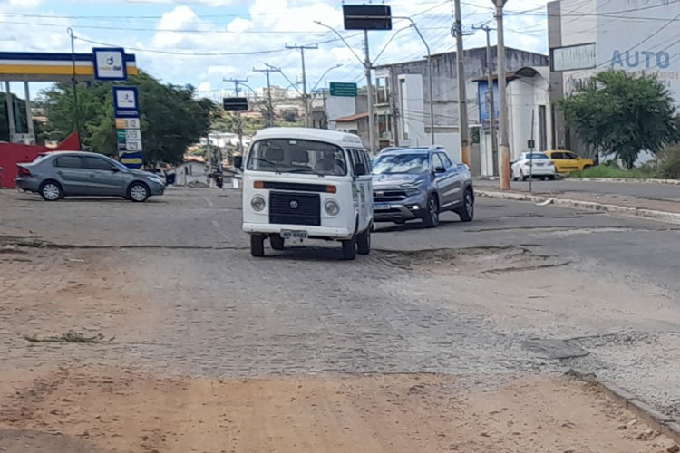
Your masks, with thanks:
M 676 444 L 680 444 L 680 423 L 672 417 L 662 414 L 641 400 L 637 400 L 634 394 L 621 389 L 615 383 L 597 379 L 597 375 L 593 372 L 572 368 L 567 371 L 567 374 L 581 381 L 593 384 L 597 387 L 597 390 L 607 394 L 607 396 L 617 401 L 625 409 L 636 414 L 638 418 L 643 419 L 651 428 L 672 439 Z

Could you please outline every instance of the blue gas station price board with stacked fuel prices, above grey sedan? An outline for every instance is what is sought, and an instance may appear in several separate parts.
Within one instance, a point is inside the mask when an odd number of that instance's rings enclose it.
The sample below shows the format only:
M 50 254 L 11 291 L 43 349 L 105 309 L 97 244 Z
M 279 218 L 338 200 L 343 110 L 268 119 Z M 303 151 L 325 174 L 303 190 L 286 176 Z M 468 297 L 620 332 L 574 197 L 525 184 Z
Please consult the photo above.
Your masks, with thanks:
M 144 153 L 141 145 L 140 103 L 137 87 L 113 87 L 113 111 L 116 117 L 116 142 L 121 164 L 141 169 Z

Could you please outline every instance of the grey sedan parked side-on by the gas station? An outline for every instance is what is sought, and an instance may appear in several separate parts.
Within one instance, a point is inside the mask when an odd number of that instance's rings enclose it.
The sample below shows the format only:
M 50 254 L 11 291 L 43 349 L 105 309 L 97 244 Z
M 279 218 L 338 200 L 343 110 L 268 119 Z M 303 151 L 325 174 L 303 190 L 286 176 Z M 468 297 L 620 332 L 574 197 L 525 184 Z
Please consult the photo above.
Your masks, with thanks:
M 38 193 L 47 201 L 70 196 L 112 196 L 143 202 L 165 191 L 160 176 L 128 169 L 92 152 L 44 153 L 30 164 L 18 167 L 17 188 Z

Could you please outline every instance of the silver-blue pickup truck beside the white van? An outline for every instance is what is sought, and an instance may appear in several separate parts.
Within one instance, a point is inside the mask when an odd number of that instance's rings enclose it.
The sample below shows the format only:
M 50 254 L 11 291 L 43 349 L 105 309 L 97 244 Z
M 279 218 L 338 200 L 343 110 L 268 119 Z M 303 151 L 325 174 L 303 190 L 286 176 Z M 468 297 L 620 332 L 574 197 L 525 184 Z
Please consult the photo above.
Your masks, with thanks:
M 421 219 L 439 225 L 453 211 L 463 222 L 474 217 L 470 169 L 455 164 L 442 147 L 384 149 L 373 162 L 374 222 Z

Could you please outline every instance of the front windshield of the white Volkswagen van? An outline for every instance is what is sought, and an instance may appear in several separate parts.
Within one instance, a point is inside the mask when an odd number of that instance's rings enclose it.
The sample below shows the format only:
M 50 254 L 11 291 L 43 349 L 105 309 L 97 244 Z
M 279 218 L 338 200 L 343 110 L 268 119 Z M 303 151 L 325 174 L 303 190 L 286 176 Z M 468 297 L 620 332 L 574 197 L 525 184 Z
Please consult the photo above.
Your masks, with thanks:
M 321 176 L 347 174 L 345 151 L 330 143 L 313 140 L 258 140 L 248 155 L 247 169 Z

